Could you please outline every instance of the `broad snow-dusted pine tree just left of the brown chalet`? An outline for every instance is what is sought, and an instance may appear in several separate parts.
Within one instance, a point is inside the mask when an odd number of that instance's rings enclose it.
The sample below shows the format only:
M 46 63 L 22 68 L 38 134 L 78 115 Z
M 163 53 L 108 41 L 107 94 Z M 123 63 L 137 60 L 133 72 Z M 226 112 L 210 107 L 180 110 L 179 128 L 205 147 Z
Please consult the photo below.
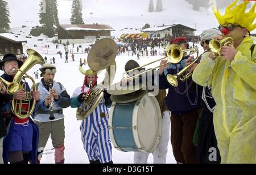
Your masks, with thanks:
M 56 0 L 43 0 L 45 3 L 45 9 L 39 14 L 39 22 L 42 24 L 42 32 L 52 37 L 55 34 L 55 30 L 59 27 L 59 19 L 57 17 L 57 3 Z

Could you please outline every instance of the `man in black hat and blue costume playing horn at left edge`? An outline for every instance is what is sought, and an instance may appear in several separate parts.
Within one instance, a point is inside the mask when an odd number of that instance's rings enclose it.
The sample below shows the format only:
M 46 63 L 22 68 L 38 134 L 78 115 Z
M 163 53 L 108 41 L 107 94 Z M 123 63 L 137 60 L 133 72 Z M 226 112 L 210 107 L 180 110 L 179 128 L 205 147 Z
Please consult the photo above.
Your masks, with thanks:
M 5 73 L 2 78 L 6 81 L 13 82 L 16 71 L 23 62 L 11 53 L 3 56 L 3 61 L 0 62 L 0 69 Z M 24 84 L 24 83 L 23 83 Z M 30 91 L 30 87 L 26 83 L 26 91 Z M 6 94 L 6 91 L 4 92 Z M 26 97 L 26 93 L 22 90 L 16 91 L 11 97 L 11 100 L 18 99 L 22 101 Z M 32 91 L 32 98 L 39 100 L 39 91 Z M 22 101 L 22 109 L 28 109 L 28 103 Z M 8 161 L 11 164 L 27 164 L 28 161 L 36 163 L 36 150 L 38 149 L 38 127 L 30 117 L 20 119 L 11 111 L 11 101 L 1 104 L 3 117 L 6 119 L 7 127 L 9 128 L 7 136 L 3 140 L 3 161 L 5 164 Z

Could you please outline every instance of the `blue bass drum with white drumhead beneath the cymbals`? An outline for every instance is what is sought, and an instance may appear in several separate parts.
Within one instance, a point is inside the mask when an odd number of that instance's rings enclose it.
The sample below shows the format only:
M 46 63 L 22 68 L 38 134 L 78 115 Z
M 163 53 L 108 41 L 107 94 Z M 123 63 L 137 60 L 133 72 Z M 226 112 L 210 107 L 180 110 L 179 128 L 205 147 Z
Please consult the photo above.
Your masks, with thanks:
M 129 103 L 114 103 L 109 115 L 109 134 L 120 151 L 154 152 L 162 133 L 162 114 L 154 96 L 144 95 Z

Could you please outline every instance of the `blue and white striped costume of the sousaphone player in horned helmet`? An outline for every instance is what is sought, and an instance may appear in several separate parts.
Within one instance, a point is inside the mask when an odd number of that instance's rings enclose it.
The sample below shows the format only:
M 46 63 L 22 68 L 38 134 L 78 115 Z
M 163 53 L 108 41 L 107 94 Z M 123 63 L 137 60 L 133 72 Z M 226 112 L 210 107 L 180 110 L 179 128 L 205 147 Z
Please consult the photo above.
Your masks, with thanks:
M 85 91 L 87 90 L 88 87 L 85 86 Z M 82 87 L 77 87 L 71 98 L 71 107 L 79 107 L 81 105 L 77 100 L 81 93 Z M 101 118 L 101 113 L 109 114 L 104 98 L 102 98 L 93 113 L 82 120 L 80 131 L 89 160 L 100 160 L 101 163 L 109 163 L 112 161 L 112 144 L 109 138 L 108 116 Z

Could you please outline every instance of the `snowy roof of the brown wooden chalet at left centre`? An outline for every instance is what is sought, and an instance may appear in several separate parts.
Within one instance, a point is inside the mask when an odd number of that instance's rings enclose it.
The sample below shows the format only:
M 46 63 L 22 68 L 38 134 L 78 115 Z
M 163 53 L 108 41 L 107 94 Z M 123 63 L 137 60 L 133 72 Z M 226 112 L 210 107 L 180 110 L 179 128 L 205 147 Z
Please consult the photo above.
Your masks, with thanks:
M 86 31 L 114 31 L 112 27 L 106 24 L 61 24 L 61 28 L 65 31 L 74 31 L 74 30 L 86 30 Z

